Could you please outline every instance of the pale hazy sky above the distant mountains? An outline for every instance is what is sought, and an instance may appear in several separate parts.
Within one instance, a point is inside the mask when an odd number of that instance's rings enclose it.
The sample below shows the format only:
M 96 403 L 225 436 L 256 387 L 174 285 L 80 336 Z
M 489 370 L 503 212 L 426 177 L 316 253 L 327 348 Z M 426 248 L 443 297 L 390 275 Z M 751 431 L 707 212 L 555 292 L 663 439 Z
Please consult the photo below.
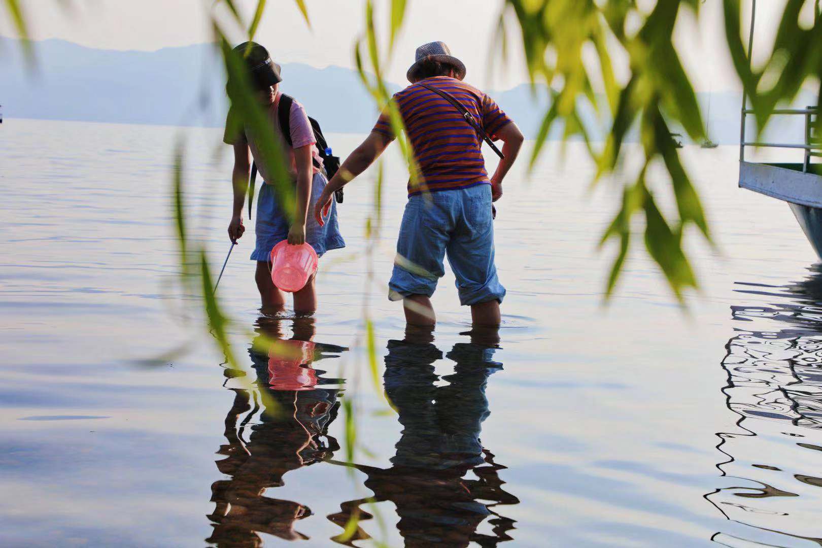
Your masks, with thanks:
M 254 0 L 235 0 L 246 20 Z M 742 0 L 745 7 L 750 0 Z M 92 48 L 154 50 L 210 41 L 208 13 L 214 4 L 205 0 L 57 0 L 22 2 L 34 39 L 60 38 Z M 308 29 L 293 0 L 268 2 L 257 40 L 279 62 L 304 62 L 316 67 L 353 67 L 353 43 L 363 32 L 363 0 L 306 0 L 312 28 Z M 653 6 L 653 0 L 640 5 Z M 760 0 L 757 7 L 757 40 L 772 39 L 785 0 Z M 810 4 L 811 2 L 809 2 Z M 724 45 L 722 0 L 706 0 L 697 24 L 690 16 L 677 22 L 675 39 L 697 90 L 737 90 L 732 64 Z M 387 0 L 376 0 L 377 18 L 386 21 Z M 405 71 L 419 44 L 443 40 L 468 66 L 467 79 L 477 85 L 502 89 L 527 81 L 521 48 L 510 48 L 505 63 L 488 70 L 501 0 L 409 0 L 409 13 L 399 37 L 389 79 L 405 81 Z M 15 36 L 7 14 L 0 11 L 0 35 Z M 237 41 L 242 34 L 223 18 Z M 383 33 L 385 37 L 386 33 Z M 510 35 L 510 44 L 519 44 Z M 760 48 L 761 53 L 762 48 Z M 755 48 L 756 53 L 756 48 Z M 2 51 L 0 51 L 2 56 Z M 505 71 L 502 70 L 505 67 Z

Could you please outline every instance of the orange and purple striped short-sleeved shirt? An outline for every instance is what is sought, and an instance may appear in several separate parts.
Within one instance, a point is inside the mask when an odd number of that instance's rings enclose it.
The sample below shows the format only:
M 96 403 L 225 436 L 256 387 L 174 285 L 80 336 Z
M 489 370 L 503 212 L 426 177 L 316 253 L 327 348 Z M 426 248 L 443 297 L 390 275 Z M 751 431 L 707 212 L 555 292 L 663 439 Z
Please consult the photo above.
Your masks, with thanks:
M 496 132 L 510 123 L 494 100 L 472 85 L 449 76 L 434 76 L 422 82 L 459 100 L 492 140 L 497 140 Z M 423 179 L 418 187 L 412 188 L 409 182 L 409 196 L 490 183 L 482 140 L 453 104 L 418 84 L 394 94 L 394 99 Z M 372 131 L 394 139 L 387 113 L 381 115 Z

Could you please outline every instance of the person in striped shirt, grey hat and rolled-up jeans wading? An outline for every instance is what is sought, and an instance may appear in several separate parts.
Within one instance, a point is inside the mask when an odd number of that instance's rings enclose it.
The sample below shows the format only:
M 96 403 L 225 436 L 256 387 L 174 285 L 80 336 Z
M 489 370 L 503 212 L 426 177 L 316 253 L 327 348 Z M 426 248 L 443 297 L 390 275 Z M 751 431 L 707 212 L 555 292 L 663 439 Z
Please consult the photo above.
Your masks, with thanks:
M 493 99 L 464 83 L 464 77 L 464 64 L 451 56 L 446 44 L 425 44 L 417 49 L 416 62 L 408 71 L 412 84 L 394 95 L 421 173 L 417 186 L 409 182 L 389 283 L 389 298 L 404 299 L 410 325 L 436 323 L 429 297 L 445 274 L 446 254 L 456 276 L 459 302 L 471 307 L 474 325 L 499 325 L 501 320 L 506 290 L 494 265 L 492 200 L 502 196 L 502 179 L 524 137 Z M 481 150 L 483 133 L 504 143 L 504 159 L 490 180 Z M 323 210 L 333 205 L 334 191 L 363 173 L 394 138 L 388 114 L 383 113 L 317 200 L 317 223 L 322 223 Z

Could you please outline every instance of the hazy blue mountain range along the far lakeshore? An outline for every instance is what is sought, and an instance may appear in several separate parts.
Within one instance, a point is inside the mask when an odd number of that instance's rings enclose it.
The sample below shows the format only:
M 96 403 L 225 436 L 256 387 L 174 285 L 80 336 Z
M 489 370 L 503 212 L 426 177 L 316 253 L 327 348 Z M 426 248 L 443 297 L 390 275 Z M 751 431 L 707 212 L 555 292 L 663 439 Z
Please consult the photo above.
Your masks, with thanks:
M 215 48 L 195 44 L 154 52 L 85 48 L 58 39 L 35 42 L 32 69 L 15 39 L 0 38 L 0 104 L 6 117 L 222 127 L 226 98 Z M 283 65 L 282 89 L 297 98 L 324 131 L 363 133 L 376 120 L 371 97 L 356 71 L 344 67 Z M 479 84 L 479 82 L 478 82 Z M 392 84 L 395 90 L 403 87 Z M 547 94 L 529 85 L 490 92 L 524 134 L 537 134 Z M 812 94 L 801 104 L 814 104 Z M 708 94 L 699 94 L 707 112 Z M 739 142 L 738 93 L 710 94 L 709 132 L 722 144 Z M 593 113 L 585 117 L 593 120 Z M 789 117 L 769 127 L 785 140 L 802 136 L 802 121 Z M 557 127 L 551 138 L 561 136 Z M 594 139 L 601 136 L 593 136 Z

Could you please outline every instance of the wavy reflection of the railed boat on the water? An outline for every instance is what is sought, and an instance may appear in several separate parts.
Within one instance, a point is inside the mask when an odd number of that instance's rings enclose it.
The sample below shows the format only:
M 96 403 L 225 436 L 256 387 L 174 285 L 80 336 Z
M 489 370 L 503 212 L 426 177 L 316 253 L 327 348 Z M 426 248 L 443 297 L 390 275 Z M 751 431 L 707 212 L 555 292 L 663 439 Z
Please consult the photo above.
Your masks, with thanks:
M 756 527 L 755 538 L 746 541 L 822 545 L 822 274 L 746 292 L 782 302 L 732 306 L 734 319 L 778 324 L 746 330 L 727 343 L 723 392 L 741 431 L 718 434 L 718 449 L 727 455 L 718 467 L 733 479 L 706 497 L 728 519 Z M 718 532 L 713 540 L 737 546 L 729 543 L 739 536 L 746 531 Z

